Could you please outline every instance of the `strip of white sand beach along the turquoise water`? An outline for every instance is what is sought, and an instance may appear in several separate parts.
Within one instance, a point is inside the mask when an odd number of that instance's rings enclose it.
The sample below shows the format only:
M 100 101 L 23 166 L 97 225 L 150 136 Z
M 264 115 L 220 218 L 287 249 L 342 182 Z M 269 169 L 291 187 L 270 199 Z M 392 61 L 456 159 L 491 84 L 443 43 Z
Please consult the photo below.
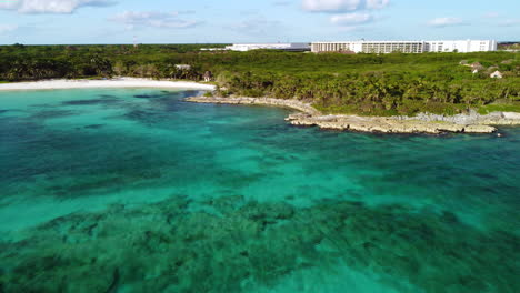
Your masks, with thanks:
M 34 82 L 0 83 L 0 91 L 16 90 L 59 90 L 59 89 L 92 89 L 92 88 L 168 88 L 214 90 L 212 84 L 187 81 L 160 81 L 137 78 L 117 78 L 108 80 L 43 80 Z

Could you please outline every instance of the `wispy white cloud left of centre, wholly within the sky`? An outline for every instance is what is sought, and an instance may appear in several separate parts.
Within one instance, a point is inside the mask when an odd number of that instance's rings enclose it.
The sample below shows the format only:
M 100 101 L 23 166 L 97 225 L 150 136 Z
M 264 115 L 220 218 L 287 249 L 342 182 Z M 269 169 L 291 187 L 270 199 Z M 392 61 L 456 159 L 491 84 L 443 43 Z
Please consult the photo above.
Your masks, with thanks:
M 110 20 L 124 23 L 128 29 L 136 27 L 154 27 L 166 29 L 188 29 L 200 24 L 200 21 L 184 20 L 180 18 L 182 12 L 133 12 L 126 11 Z

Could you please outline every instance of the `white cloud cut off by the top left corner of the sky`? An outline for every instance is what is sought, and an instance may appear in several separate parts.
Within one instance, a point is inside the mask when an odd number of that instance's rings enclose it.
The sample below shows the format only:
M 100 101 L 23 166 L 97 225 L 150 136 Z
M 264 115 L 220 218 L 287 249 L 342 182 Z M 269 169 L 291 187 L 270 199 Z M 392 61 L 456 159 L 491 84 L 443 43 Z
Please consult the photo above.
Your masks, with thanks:
M 16 10 L 19 13 L 72 13 L 82 7 L 107 7 L 112 0 L 7 0 L 0 9 Z

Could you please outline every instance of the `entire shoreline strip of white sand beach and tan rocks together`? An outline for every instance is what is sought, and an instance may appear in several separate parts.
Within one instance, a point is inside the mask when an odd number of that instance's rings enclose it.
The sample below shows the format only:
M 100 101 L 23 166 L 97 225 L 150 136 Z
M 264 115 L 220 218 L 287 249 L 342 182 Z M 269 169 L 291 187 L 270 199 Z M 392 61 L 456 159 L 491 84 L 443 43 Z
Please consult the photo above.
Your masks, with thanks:
M 143 78 L 114 78 L 104 80 L 43 80 L 33 82 L 1 83 L 1 91 L 18 90 L 56 90 L 56 89 L 94 89 L 94 88 L 164 88 L 199 89 L 216 93 L 217 85 L 171 80 L 152 80 Z M 493 125 L 520 125 L 520 113 L 496 111 L 479 114 L 474 111 L 457 115 L 420 113 L 414 117 L 362 117 L 352 114 L 324 114 L 312 103 L 293 99 L 251 98 L 251 97 L 191 97 L 188 102 L 270 105 L 297 110 L 286 121 L 292 125 L 318 127 L 320 129 L 380 132 L 380 133 L 493 133 Z

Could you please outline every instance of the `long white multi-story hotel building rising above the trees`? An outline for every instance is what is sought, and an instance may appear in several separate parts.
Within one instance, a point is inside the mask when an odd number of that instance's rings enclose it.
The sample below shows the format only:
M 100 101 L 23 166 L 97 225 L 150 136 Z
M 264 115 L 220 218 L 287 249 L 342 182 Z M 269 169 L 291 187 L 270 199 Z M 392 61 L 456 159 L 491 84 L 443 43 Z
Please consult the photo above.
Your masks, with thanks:
M 312 42 L 312 52 L 354 52 L 354 53 L 423 53 L 423 52 L 486 52 L 497 51 L 494 40 L 464 41 L 346 41 Z

